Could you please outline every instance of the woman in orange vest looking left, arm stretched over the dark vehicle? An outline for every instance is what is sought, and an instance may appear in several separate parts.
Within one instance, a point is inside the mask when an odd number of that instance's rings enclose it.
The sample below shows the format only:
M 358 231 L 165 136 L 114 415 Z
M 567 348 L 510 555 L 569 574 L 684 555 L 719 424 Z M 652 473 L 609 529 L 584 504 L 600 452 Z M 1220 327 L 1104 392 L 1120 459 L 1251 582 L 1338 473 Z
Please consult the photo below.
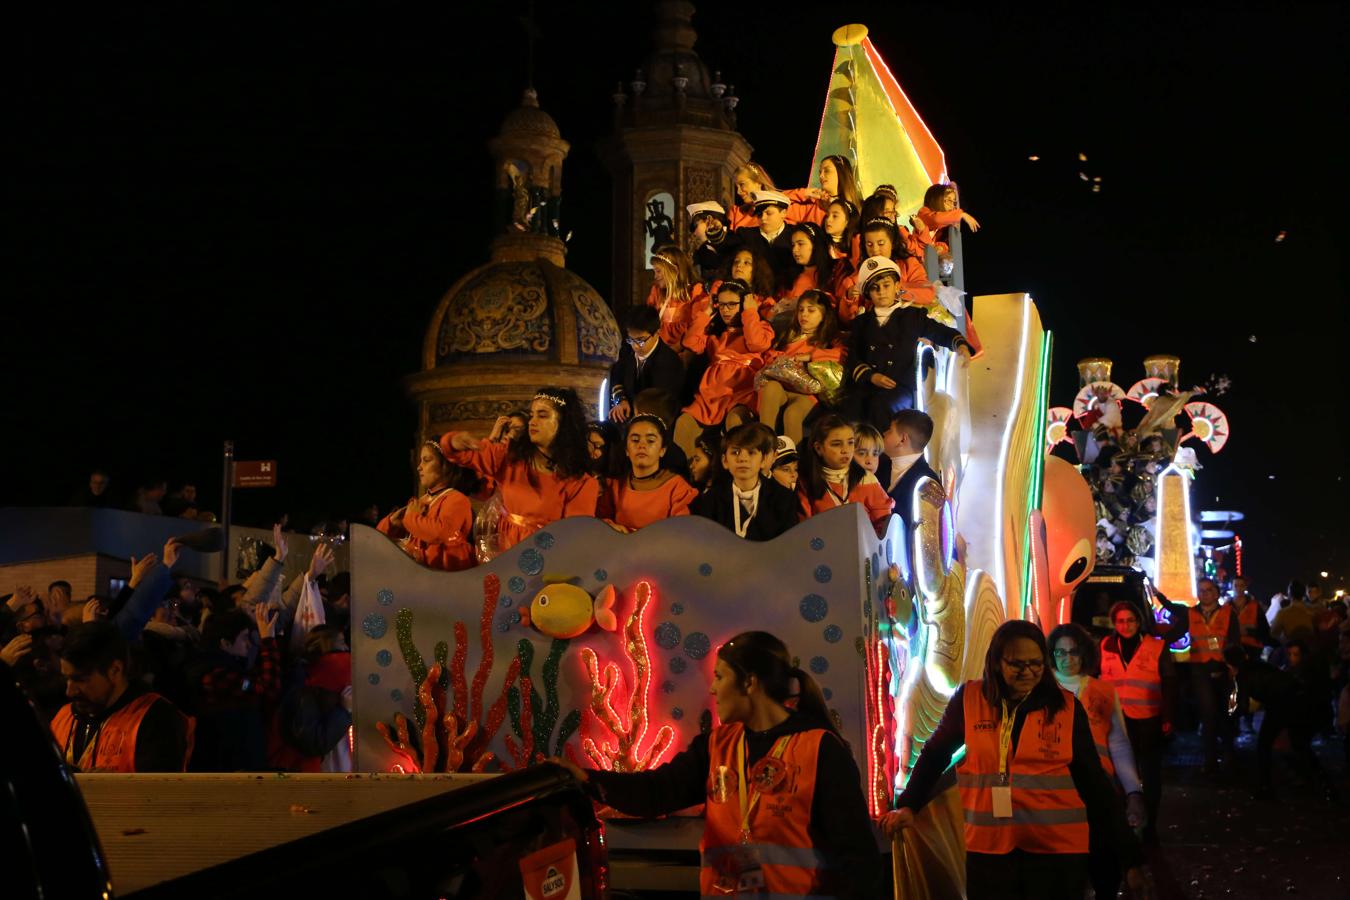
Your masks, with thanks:
M 883 896 L 857 765 L 815 680 L 780 640 L 745 631 L 717 650 L 709 692 L 721 725 L 663 766 L 625 773 L 554 762 L 629 815 L 706 804 L 705 897 Z

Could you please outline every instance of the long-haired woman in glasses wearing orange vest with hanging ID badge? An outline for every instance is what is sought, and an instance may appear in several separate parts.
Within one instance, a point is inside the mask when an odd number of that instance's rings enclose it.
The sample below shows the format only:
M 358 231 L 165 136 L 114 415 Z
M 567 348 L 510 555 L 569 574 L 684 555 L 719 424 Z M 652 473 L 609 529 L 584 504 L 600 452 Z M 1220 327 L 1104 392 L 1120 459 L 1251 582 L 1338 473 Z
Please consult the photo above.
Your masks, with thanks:
M 984 677 L 956 690 L 937 730 L 886 814 L 887 834 L 914 822 L 957 749 L 965 810 L 969 900 L 1081 900 L 1088 822 L 1145 889 L 1139 845 L 1102 769 L 1083 704 L 1050 673 L 1045 637 L 1031 622 L 1004 622 L 984 656 Z

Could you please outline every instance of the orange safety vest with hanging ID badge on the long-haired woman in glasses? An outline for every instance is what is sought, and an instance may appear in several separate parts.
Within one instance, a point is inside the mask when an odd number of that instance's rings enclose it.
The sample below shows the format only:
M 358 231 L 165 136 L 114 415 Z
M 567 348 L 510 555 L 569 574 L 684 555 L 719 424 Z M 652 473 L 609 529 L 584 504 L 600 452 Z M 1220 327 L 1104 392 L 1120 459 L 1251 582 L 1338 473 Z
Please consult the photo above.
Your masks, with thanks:
M 1073 787 L 1073 695 L 1065 708 L 1048 716 L 1033 710 L 1010 750 L 1007 787 L 1013 816 L 994 815 L 994 791 L 1004 784 L 999 772 L 998 711 L 967 681 L 964 691 L 965 758 L 956 766 L 956 784 L 965 810 L 965 849 L 971 853 L 1087 853 L 1088 811 Z M 1011 714 L 1011 710 L 1010 710 Z

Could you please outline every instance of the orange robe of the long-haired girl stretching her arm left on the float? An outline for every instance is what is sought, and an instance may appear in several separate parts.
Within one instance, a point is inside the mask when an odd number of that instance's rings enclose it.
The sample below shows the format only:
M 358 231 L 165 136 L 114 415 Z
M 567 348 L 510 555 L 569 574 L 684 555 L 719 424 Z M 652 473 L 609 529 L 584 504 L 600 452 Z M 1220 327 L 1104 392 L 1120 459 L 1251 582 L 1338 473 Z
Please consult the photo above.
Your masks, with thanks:
M 594 515 L 599 499 L 599 482 L 594 475 L 558 478 L 552 472 L 531 472 L 529 463 L 506 457 L 506 444 L 481 441 L 475 451 L 455 449 L 456 432 L 441 434 L 440 451 L 455 466 L 474 470 L 483 478 L 497 479 L 506 515 L 498 537 L 502 551 L 510 549 L 549 522 L 568 515 Z M 535 476 L 531 484 L 529 476 Z

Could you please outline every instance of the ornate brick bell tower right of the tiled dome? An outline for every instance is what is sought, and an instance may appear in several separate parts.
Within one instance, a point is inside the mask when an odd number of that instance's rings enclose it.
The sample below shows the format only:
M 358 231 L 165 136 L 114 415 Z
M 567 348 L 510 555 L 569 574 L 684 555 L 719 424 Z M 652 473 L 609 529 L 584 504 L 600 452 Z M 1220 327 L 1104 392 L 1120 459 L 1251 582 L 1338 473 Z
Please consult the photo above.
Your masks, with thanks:
M 736 88 L 694 51 L 694 4 L 656 4 L 655 49 L 633 80 L 614 88 L 614 134 L 599 144 L 614 178 L 613 308 L 621 314 L 652 286 L 651 248 L 687 247 L 684 206 L 732 201 L 751 146 L 736 131 Z

